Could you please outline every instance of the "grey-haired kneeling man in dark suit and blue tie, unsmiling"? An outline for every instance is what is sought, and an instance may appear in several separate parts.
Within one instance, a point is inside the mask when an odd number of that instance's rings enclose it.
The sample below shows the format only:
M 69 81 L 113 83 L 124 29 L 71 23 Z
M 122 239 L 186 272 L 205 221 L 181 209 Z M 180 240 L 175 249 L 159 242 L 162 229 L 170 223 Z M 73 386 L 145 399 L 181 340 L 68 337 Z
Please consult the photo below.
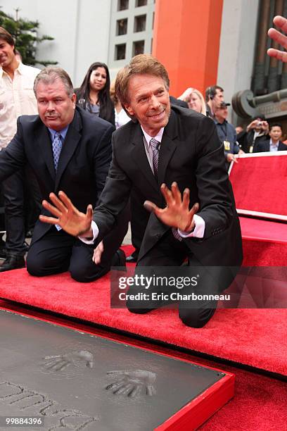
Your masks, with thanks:
M 44 199 L 65 190 L 80 211 L 96 205 L 108 175 L 110 138 L 114 127 L 76 108 L 72 82 L 65 70 L 46 68 L 34 82 L 39 115 L 18 118 L 17 133 L 0 154 L 0 180 L 26 163 L 34 171 Z M 45 211 L 46 214 L 49 214 Z M 122 219 L 124 217 L 124 219 Z M 37 222 L 27 255 L 27 270 L 42 276 L 70 270 L 72 277 L 89 282 L 110 269 L 113 255 L 127 232 L 125 215 L 106 232 L 101 265 L 91 261 L 94 242 L 84 243 L 60 226 Z M 115 256 L 114 265 L 123 263 Z

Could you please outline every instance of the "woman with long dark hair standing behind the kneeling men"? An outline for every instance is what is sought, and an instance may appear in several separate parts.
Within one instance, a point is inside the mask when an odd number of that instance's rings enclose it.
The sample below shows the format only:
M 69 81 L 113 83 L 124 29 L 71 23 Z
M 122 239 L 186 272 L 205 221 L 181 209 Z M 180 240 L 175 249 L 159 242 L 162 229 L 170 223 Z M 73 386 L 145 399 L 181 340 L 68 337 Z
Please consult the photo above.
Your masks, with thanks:
M 75 93 L 78 106 L 115 125 L 115 111 L 110 99 L 110 74 L 105 63 L 91 64 Z

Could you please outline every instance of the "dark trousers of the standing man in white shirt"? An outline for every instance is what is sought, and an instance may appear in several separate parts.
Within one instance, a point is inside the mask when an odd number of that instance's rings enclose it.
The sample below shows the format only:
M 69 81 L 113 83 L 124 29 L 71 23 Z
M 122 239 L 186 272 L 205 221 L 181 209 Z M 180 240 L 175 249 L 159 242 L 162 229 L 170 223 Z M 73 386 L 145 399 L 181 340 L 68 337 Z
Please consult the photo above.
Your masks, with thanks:
M 28 193 L 25 193 L 25 190 Z M 25 246 L 25 205 L 32 196 L 39 208 L 41 198 L 39 185 L 34 173 L 21 168 L 2 182 L 5 206 L 6 253 L 7 256 L 24 256 Z M 35 212 L 35 211 L 34 211 Z

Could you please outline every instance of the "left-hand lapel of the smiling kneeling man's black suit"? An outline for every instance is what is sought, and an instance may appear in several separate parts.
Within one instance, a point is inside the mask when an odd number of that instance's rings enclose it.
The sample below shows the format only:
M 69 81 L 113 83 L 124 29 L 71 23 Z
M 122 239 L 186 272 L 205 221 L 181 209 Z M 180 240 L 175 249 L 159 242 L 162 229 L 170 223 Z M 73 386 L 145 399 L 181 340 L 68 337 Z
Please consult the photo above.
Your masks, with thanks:
M 144 147 L 144 138 L 139 124 L 135 127 L 134 137 L 132 137 L 132 158 L 138 166 L 141 173 L 146 177 L 150 185 L 158 192 L 158 183 L 155 180 L 151 166 L 148 163 L 146 149 Z

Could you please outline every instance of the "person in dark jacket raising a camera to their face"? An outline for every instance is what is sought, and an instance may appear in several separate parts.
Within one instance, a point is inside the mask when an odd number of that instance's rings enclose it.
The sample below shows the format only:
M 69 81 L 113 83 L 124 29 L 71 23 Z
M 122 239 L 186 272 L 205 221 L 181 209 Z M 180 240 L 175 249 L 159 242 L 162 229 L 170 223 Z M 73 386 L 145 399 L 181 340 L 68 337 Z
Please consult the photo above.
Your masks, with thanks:
M 265 140 L 269 132 L 269 125 L 263 118 L 257 117 L 251 121 L 244 132 L 237 137 L 241 149 L 245 153 L 255 153 L 257 145 Z

